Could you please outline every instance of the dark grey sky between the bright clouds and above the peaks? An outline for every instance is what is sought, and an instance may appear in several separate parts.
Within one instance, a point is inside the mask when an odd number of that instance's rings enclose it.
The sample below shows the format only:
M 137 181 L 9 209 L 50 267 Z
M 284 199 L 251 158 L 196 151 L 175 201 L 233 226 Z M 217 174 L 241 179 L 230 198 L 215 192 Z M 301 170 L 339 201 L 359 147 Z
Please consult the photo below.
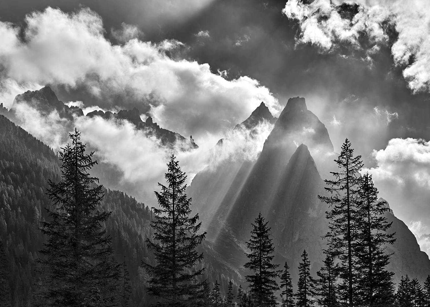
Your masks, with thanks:
M 184 1 L 193 6 L 191 2 Z M 389 45 L 373 57 L 374 63 L 369 69 L 368 63 L 362 61 L 363 52 L 343 48 L 322 54 L 309 44 L 295 48 L 298 25 L 281 13 L 285 0 L 194 2 L 206 3 L 206 6 L 200 10 L 194 7 L 196 11 L 184 8 L 189 12 L 175 15 L 175 10 L 181 7 L 179 1 L 170 1 L 169 6 L 169 1 L 3 0 L 0 18 L 22 24 L 25 14 L 46 6 L 59 7 L 65 12 L 87 6 L 101 15 L 105 35 L 113 43 L 117 42 L 110 29 L 119 29 L 123 22 L 138 25 L 142 40 L 179 40 L 186 47 L 176 52 L 175 57 L 209 63 L 213 72 L 226 70 L 230 79 L 255 78 L 277 95 L 281 104 L 290 97 L 303 96 L 309 109 L 326 125 L 334 114 L 339 114 L 337 120 L 350 122 L 347 114 L 366 116 L 363 112 L 369 113 L 374 107 L 397 112 L 398 119 L 390 123 L 389 129 L 369 135 L 366 145 L 360 141 L 359 127 L 348 127 L 348 135 L 339 135 L 339 139 L 332 136 L 335 147 L 340 146 L 344 137 L 353 142 L 356 138 L 366 160 L 370 150 L 384 148 L 390 138 L 430 138 L 427 124 L 430 96 L 428 93 L 412 95 L 402 77 L 402 68 L 393 65 Z M 209 31 L 210 37 L 197 37 L 199 31 Z M 242 40 L 241 46 L 236 46 L 238 40 Z M 81 89 L 66 92 L 57 87 L 56 92 L 61 99 L 85 102 Z M 345 102 L 348 97 L 354 97 L 353 102 Z M 132 107 L 127 101 L 121 104 Z

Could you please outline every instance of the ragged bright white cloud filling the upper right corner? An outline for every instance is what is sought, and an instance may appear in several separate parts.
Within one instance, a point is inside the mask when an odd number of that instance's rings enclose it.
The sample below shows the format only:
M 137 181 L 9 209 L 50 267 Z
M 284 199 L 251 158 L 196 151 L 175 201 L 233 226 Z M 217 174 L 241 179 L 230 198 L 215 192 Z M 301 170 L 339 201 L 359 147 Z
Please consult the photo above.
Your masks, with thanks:
M 323 52 L 339 45 L 353 49 L 369 48 L 378 52 L 379 44 L 389 41 L 389 28 L 398 33 L 391 47 L 394 63 L 402 68 L 403 77 L 413 93 L 430 91 L 430 2 L 427 0 L 315 0 L 303 3 L 290 0 L 283 9 L 290 19 L 298 21 L 300 34 L 296 43 L 311 43 Z M 365 35 L 368 46 L 359 38 Z

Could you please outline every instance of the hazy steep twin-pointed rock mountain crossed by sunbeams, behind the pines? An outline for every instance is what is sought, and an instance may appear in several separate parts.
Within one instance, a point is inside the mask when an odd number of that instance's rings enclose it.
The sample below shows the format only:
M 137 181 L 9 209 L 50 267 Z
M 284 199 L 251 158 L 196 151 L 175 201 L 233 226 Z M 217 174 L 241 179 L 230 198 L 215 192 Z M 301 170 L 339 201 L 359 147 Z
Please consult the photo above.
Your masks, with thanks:
M 239 275 L 246 275 L 245 242 L 251 223 L 261 212 L 271 227 L 274 261 L 287 261 L 296 282 L 300 255 L 306 249 L 315 274 L 326 247 L 321 236 L 328 231 L 325 212 L 329 207 L 317 198 L 326 193 L 321 174 L 337 169 L 333 162 L 337 156 L 327 129 L 307 110 L 304 98 L 291 98 L 255 162 L 229 162 L 194 177 L 187 194 L 193 197 L 203 225 L 207 224 L 207 252 L 226 267 L 236 268 Z M 391 210 L 386 216 L 393 221 L 390 231 L 396 232 L 397 238 L 386 249 L 394 252 L 388 266 L 396 274 L 394 282 L 405 274 L 423 281 L 430 273 L 428 256 Z

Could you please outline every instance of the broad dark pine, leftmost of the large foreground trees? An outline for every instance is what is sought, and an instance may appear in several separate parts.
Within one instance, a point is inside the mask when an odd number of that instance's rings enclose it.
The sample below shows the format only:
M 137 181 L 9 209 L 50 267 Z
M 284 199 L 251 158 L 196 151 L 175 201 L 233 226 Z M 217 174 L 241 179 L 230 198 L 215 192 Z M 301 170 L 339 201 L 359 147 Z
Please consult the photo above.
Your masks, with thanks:
M 46 209 L 50 221 L 40 231 L 48 237 L 37 259 L 43 306 L 113 306 L 119 300 L 121 264 L 112 257 L 111 238 L 103 224 L 111 212 L 96 210 L 103 199 L 103 186 L 90 177 L 93 152 L 85 154 L 80 132 L 70 134 L 72 144 L 59 152 L 61 181 L 49 180 L 47 195 L 53 202 Z

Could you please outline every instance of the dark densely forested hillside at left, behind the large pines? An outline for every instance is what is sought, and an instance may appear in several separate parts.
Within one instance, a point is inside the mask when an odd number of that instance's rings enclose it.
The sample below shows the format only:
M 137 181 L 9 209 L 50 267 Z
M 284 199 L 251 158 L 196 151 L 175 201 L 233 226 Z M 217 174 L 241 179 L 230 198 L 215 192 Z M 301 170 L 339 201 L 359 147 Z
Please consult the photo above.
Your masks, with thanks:
M 9 258 L 12 306 L 32 301 L 35 259 L 44 237 L 37 230 L 46 218 L 48 179 L 60 178 L 60 163 L 48 146 L 0 115 L 0 239 Z M 151 210 L 120 191 L 105 190 L 101 209 L 112 211 L 107 221 L 115 256 L 130 272 L 132 306 L 144 301 L 141 260 L 151 261 L 144 240 L 151 235 Z

